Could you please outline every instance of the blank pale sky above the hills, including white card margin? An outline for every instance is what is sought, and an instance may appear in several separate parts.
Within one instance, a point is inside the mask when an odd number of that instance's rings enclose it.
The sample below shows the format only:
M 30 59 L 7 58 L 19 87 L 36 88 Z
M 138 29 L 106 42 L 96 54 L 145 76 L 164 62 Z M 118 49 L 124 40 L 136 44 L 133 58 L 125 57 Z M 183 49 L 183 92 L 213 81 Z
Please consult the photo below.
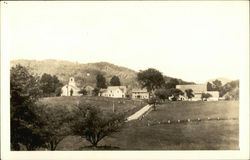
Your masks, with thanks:
M 2 9 L 10 60 L 106 61 L 203 83 L 239 79 L 249 51 L 247 1 L 8 1 Z

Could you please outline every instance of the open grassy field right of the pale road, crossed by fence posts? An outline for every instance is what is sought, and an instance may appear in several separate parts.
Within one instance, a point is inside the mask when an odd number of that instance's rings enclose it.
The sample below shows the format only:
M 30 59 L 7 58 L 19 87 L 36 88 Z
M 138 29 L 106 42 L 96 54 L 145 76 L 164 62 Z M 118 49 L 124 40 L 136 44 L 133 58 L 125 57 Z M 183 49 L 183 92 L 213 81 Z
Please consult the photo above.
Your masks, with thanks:
M 142 120 L 126 123 L 120 132 L 104 138 L 99 145 L 120 150 L 236 150 L 238 117 L 238 101 L 167 102 Z M 192 120 L 197 118 L 201 121 Z M 161 123 L 178 119 L 191 121 Z M 68 136 L 57 149 L 87 150 L 89 145 L 80 137 Z

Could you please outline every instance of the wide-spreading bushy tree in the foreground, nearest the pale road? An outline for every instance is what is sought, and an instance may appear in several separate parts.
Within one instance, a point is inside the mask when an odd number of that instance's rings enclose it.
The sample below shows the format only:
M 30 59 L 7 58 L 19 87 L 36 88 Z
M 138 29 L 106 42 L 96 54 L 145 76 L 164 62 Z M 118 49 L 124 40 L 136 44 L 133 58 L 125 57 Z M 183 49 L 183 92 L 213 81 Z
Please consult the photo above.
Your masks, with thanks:
M 74 111 L 74 117 L 73 133 L 86 138 L 94 148 L 104 137 L 119 131 L 124 122 L 124 116 L 121 114 L 105 114 L 99 107 L 82 102 Z

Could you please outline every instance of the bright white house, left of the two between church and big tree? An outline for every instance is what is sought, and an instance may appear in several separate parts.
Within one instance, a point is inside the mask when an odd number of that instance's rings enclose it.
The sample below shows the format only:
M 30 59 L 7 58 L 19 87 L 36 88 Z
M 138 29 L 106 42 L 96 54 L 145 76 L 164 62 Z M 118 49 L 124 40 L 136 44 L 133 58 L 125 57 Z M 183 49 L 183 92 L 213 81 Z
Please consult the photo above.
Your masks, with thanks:
M 125 98 L 127 93 L 126 86 L 109 86 L 107 89 L 101 89 L 99 96 L 112 98 Z

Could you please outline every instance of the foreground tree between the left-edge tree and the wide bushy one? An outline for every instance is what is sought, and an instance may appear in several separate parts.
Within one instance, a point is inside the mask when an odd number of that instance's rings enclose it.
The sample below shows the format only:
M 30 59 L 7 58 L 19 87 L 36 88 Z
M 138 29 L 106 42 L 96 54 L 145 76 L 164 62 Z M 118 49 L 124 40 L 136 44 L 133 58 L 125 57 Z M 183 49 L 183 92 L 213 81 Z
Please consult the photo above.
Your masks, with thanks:
M 70 113 L 65 106 L 48 107 L 41 105 L 36 108 L 36 114 L 43 123 L 40 133 L 45 142 L 45 147 L 49 150 L 56 150 L 59 142 L 70 135 L 70 122 L 73 119 Z

